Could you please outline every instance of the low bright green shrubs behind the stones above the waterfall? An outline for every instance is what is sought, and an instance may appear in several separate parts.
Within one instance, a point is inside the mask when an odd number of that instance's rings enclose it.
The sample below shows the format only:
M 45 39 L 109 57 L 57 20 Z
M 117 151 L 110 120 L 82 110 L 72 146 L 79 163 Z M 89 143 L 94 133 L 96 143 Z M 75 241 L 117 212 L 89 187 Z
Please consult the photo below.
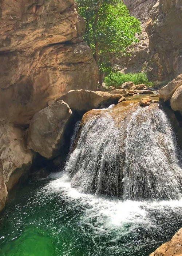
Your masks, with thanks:
M 104 82 L 107 87 L 114 86 L 115 88 L 119 88 L 125 82 L 133 82 L 135 84 L 144 83 L 146 86 L 152 86 L 146 73 L 121 74 L 120 72 L 112 72 L 105 78 Z

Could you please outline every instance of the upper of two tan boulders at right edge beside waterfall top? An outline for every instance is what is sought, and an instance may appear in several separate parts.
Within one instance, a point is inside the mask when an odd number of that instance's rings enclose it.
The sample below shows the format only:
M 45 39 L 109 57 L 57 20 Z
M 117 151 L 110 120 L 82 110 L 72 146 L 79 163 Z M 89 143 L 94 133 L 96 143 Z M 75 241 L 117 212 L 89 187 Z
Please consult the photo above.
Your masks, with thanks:
M 159 92 L 159 98 L 168 101 L 173 96 L 174 92 L 182 85 L 182 74 L 164 86 Z

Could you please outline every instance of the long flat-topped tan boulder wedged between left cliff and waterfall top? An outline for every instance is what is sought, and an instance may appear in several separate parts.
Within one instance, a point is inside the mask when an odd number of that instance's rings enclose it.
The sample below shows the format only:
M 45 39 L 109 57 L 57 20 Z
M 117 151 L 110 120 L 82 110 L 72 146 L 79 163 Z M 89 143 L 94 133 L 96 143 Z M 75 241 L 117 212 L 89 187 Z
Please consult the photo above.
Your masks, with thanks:
M 59 100 L 66 102 L 71 110 L 84 113 L 102 105 L 116 104 L 121 97 L 121 94 L 112 95 L 103 91 L 71 90 Z

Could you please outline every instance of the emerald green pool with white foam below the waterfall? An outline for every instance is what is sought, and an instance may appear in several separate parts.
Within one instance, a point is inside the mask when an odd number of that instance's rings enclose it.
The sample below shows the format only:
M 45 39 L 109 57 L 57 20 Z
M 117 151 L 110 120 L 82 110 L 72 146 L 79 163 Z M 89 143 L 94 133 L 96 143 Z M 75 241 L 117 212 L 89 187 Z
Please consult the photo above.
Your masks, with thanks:
M 147 256 L 182 226 L 182 201 L 122 202 L 82 195 L 54 174 L 9 196 L 1 256 Z

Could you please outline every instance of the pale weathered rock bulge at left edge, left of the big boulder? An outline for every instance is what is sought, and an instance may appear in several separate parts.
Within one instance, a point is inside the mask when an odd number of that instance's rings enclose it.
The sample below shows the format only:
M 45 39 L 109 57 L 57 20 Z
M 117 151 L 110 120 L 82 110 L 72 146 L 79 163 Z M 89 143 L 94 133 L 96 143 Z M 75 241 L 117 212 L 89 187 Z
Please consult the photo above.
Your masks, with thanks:
M 0 124 L 0 159 L 3 167 L 4 181 L 9 189 L 12 185 L 8 185 L 15 170 L 13 184 L 16 184 L 20 176 L 27 167 L 31 166 L 33 152 L 27 149 L 25 143 L 25 132 L 12 124 Z M 12 184 L 12 181 L 10 181 Z M 9 183 L 9 184 L 10 184 Z M 8 190 L 9 190 L 8 189 Z

